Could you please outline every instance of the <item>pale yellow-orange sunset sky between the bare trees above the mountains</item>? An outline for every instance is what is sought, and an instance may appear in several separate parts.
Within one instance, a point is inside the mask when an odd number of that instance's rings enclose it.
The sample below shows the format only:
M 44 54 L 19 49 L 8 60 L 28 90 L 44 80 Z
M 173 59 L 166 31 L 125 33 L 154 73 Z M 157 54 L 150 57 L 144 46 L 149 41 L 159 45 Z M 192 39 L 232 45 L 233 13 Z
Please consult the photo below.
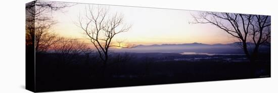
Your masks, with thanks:
M 83 16 L 87 4 L 77 4 L 65 8 L 62 12 L 53 12 L 58 23 L 52 31 L 64 37 L 78 38 L 89 42 L 82 29 L 76 25 L 79 14 Z M 95 5 L 98 6 L 98 5 Z M 109 8 L 109 14 L 121 13 L 124 23 L 132 27 L 127 32 L 117 34 L 114 41 L 124 40 L 130 44 L 163 44 L 163 43 L 231 43 L 233 37 L 211 24 L 189 24 L 194 21 L 192 15 L 198 11 L 122 7 L 99 5 Z

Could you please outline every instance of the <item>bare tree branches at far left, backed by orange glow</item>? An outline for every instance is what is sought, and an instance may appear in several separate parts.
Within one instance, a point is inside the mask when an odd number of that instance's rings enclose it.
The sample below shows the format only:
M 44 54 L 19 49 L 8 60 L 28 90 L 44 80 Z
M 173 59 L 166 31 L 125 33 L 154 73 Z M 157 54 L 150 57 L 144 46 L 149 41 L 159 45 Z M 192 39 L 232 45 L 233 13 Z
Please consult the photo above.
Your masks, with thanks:
M 50 14 L 70 6 L 73 5 L 47 1 L 26 4 L 26 45 L 34 46 L 35 52 L 47 51 L 59 40 L 57 34 L 49 31 L 56 24 Z

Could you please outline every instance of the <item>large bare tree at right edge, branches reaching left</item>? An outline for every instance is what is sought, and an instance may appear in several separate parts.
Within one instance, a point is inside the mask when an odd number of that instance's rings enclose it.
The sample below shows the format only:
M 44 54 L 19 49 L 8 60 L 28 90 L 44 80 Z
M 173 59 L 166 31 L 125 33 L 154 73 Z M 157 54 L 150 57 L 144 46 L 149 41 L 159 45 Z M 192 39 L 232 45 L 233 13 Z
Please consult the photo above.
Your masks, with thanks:
M 194 19 L 192 23 L 212 24 L 237 38 L 251 62 L 256 60 L 261 45 L 270 44 L 270 16 L 202 12 Z M 255 44 L 251 50 L 248 42 Z

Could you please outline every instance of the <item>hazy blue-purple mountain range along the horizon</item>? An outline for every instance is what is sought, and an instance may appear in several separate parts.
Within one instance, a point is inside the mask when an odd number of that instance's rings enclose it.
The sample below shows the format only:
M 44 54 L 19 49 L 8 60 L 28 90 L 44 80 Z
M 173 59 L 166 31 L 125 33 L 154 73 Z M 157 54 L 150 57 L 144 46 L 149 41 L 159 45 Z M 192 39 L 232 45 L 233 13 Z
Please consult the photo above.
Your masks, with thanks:
M 224 53 L 224 54 L 243 54 L 240 47 L 241 42 L 234 43 L 182 43 L 182 44 L 152 44 L 152 45 L 136 45 L 131 49 L 113 49 L 114 52 L 133 52 L 133 53 L 183 53 L 183 52 L 198 52 L 198 53 Z M 254 43 L 248 42 L 249 48 L 254 48 Z M 266 48 L 261 46 L 261 48 Z M 269 49 L 269 47 L 267 47 Z M 266 49 L 267 49 L 266 48 Z

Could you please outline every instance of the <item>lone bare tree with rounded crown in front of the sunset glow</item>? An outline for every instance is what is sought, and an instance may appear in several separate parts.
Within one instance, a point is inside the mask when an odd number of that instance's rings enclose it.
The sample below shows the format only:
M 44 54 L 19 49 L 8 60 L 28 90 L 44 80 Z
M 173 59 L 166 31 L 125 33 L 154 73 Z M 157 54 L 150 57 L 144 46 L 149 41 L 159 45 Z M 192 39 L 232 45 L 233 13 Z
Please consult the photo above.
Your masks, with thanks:
M 103 61 L 103 69 L 106 68 L 109 59 L 109 48 L 127 48 L 121 46 L 121 44 L 112 44 L 115 35 L 126 32 L 131 27 L 124 24 L 123 16 L 119 13 L 109 16 L 108 8 L 89 5 L 85 8 L 83 17 L 79 15 L 77 25 L 84 31 L 97 49 L 99 57 Z

